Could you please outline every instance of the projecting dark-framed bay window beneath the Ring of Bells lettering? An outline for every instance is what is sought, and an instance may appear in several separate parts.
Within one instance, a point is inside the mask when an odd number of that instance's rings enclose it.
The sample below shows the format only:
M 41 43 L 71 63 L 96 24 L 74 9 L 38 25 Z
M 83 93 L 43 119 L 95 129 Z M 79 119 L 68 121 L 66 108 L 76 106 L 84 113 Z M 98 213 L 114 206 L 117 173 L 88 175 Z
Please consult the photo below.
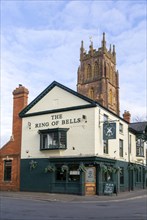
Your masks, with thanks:
M 40 130 L 40 150 L 67 148 L 67 128 Z

